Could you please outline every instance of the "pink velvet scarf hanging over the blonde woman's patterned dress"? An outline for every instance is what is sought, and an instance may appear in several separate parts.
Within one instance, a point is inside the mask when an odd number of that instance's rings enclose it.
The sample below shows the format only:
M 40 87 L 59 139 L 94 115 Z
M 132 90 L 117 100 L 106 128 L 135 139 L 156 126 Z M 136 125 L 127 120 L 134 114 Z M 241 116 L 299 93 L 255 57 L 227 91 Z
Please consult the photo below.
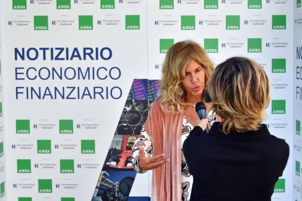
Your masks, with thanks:
M 149 111 L 145 130 L 153 155 L 166 154 L 169 162 L 153 170 L 152 201 L 181 201 L 181 132 L 183 114 L 164 113 L 160 100 Z

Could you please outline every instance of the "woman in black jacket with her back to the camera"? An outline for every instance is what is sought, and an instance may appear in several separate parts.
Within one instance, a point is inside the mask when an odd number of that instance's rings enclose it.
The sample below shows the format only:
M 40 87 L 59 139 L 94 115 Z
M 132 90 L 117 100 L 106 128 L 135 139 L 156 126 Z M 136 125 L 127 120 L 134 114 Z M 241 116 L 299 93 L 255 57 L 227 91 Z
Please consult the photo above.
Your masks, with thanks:
M 289 147 L 261 124 L 270 102 L 264 69 L 247 58 L 230 58 L 215 68 L 209 92 L 223 121 L 206 134 L 207 120 L 201 120 L 184 142 L 194 177 L 190 201 L 271 200 Z

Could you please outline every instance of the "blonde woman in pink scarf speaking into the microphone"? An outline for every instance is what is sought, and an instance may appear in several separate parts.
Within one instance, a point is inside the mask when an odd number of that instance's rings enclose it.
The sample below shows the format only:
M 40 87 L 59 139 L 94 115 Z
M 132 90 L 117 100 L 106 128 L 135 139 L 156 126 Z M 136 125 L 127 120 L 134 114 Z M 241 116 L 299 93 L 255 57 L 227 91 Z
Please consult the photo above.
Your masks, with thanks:
M 155 201 L 188 201 L 193 178 L 182 154 L 182 143 L 198 118 L 195 104 L 205 103 L 213 64 L 193 41 L 178 42 L 169 49 L 163 69 L 161 92 L 149 111 L 140 137 L 132 148 L 133 167 L 143 173 L 153 169 Z M 209 111 L 209 120 L 215 115 Z

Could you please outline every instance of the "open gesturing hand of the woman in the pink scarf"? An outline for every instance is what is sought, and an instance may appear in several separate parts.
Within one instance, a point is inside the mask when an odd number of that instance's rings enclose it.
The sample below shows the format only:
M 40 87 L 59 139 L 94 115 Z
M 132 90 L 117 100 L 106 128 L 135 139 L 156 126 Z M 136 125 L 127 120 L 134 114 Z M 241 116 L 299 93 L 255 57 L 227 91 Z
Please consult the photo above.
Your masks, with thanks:
M 146 157 L 143 152 L 143 147 L 139 146 L 138 165 L 142 170 L 152 170 L 167 163 L 170 159 L 165 157 L 165 154 L 159 154 L 154 157 Z

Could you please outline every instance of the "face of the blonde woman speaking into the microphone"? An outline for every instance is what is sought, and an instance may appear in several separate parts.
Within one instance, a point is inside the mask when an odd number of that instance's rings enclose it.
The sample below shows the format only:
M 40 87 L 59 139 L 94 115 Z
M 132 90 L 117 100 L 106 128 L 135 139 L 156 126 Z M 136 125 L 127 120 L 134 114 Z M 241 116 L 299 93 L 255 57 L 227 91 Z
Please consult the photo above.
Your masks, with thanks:
M 181 83 L 186 92 L 186 99 L 200 100 L 205 85 L 204 68 L 192 59 L 185 69 L 185 74 Z

